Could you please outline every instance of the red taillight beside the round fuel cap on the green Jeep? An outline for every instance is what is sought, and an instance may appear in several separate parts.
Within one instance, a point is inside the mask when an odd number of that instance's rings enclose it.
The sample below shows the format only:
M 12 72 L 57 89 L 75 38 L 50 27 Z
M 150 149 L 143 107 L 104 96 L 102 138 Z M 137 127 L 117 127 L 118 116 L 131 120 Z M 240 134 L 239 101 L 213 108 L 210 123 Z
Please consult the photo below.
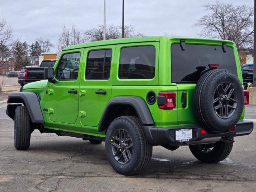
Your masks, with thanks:
M 175 92 L 159 92 L 157 102 L 158 107 L 160 109 L 174 109 L 176 107 L 175 96 Z

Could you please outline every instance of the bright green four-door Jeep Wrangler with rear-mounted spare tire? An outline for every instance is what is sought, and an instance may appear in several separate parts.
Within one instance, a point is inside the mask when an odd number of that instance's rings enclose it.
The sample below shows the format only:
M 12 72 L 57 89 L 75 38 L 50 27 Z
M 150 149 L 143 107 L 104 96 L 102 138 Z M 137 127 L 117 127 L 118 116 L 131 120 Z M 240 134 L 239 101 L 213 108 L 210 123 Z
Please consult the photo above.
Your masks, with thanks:
M 44 78 L 8 97 L 14 146 L 30 135 L 56 133 L 105 142 L 112 168 L 124 175 L 147 167 L 152 146 L 189 146 L 202 162 L 231 152 L 234 136 L 248 135 L 249 92 L 232 41 L 142 37 L 69 46 Z

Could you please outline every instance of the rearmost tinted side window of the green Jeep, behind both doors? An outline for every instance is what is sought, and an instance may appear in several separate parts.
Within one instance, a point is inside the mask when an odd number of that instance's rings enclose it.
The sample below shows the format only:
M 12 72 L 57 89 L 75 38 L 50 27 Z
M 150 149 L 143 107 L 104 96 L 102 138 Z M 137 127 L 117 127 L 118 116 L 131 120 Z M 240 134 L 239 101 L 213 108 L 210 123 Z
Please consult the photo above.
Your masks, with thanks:
M 118 77 L 120 79 L 152 79 L 155 76 L 155 62 L 154 46 L 122 48 Z

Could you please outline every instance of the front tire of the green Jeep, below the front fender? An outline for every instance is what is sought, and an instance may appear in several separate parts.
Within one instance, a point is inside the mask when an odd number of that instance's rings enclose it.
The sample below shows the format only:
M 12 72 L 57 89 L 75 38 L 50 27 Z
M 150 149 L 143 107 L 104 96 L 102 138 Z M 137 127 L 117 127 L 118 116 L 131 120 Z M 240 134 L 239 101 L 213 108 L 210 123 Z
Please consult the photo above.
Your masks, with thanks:
M 31 121 L 26 106 L 18 106 L 14 117 L 14 147 L 18 150 L 30 146 Z

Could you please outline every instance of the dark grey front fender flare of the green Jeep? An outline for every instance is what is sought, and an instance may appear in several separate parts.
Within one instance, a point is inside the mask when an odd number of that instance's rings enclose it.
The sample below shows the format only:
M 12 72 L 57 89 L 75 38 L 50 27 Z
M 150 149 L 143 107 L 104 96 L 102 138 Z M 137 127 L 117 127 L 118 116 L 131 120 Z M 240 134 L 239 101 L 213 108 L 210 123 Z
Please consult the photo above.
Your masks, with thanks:
M 32 123 L 44 123 L 44 117 L 39 104 L 39 97 L 34 92 L 10 93 L 7 100 L 6 115 L 14 120 L 15 109 L 21 103 L 26 106 Z

